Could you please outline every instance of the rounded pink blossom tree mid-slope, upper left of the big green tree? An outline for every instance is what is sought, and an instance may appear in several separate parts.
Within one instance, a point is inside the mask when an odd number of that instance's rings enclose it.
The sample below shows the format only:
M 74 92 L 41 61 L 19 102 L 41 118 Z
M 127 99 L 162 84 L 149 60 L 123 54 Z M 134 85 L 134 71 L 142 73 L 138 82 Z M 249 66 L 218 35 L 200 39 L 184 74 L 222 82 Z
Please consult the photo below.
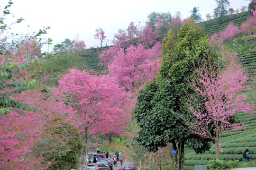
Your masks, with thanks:
M 126 51 L 121 49 L 108 65 L 110 75 L 116 76 L 118 84 L 127 91 L 134 91 L 145 82 L 151 81 L 160 67 L 159 60 L 152 59 L 155 51 L 145 50 L 144 47 L 139 44 L 138 47 L 131 45 Z

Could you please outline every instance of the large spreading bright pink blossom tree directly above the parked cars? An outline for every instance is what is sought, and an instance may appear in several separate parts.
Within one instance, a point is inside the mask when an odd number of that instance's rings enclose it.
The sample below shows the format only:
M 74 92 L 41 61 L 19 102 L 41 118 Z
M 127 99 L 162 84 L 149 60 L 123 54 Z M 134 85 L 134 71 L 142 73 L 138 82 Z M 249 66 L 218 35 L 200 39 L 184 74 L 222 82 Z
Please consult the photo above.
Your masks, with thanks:
M 87 144 L 90 135 L 104 133 L 121 135 L 125 124 L 126 109 L 133 106 L 132 94 L 119 87 L 117 78 L 109 75 L 93 76 L 85 70 L 69 70 L 59 80 L 58 90 L 70 93 L 74 102 L 68 119 L 80 129 Z M 127 117 L 128 118 L 128 117 Z

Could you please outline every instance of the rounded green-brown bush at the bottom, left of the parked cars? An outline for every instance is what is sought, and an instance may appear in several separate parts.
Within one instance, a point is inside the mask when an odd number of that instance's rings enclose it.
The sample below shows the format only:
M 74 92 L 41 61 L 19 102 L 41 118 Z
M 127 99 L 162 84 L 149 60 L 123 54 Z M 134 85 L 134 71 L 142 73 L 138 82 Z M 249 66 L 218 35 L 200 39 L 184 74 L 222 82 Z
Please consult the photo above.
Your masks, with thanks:
M 42 138 L 34 152 L 48 162 L 47 170 L 77 169 L 82 151 L 82 138 L 78 129 L 64 119 L 53 119 L 45 124 Z

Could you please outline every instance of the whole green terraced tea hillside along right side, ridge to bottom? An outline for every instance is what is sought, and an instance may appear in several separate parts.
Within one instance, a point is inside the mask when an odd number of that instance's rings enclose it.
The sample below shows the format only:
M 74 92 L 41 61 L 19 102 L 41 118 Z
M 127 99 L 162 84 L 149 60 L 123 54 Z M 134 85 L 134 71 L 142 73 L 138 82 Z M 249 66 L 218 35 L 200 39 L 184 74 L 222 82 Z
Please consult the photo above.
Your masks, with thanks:
M 249 12 L 239 13 L 238 16 L 226 16 L 223 23 L 217 23 L 215 19 L 209 22 L 201 23 L 206 34 L 211 35 L 223 31 L 230 22 L 236 26 L 240 26 L 250 17 Z M 256 36 L 245 36 L 240 34 L 238 37 L 229 40 L 225 45 L 234 47 L 234 44 L 242 45 L 244 51 L 238 54 L 238 60 L 244 66 L 249 76 L 254 76 L 250 79 L 253 82 L 256 72 Z M 255 80 L 253 82 L 255 84 Z M 250 84 L 252 85 L 252 84 Z M 255 87 L 254 87 L 255 88 Z M 247 94 L 246 102 L 256 102 L 256 91 L 251 91 Z M 220 143 L 223 147 L 223 153 L 220 153 L 220 160 L 240 160 L 242 161 L 242 154 L 246 149 L 249 149 L 250 154 L 256 157 L 256 114 L 250 115 L 246 113 L 237 113 L 235 115 L 237 123 L 244 124 L 246 130 L 243 131 L 226 131 Z M 194 170 L 194 165 L 206 165 L 210 163 L 209 160 L 216 159 L 216 145 L 212 144 L 210 151 L 204 154 L 196 154 L 193 150 L 186 148 L 185 151 L 184 170 Z

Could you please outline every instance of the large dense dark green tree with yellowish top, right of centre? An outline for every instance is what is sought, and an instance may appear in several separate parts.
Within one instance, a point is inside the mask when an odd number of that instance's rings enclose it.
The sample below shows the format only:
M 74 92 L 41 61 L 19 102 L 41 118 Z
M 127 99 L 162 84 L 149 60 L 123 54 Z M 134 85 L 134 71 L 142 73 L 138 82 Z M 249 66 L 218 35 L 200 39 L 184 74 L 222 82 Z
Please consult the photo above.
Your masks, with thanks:
M 174 170 L 183 169 L 185 144 L 196 153 L 203 153 L 210 149 L 211 142 L 210 139 L 189 133 L 183 120 L 177 116 L 192 116 L 184 97 L 187 93 L 194 93 L 190 87 L 194 77 L 193 69 L 209 54 L 209 38 L 193 19 L 184 23 L 178 31 L 178 37 L 174 40 L 174 34 L 169 31 L 164 38 L 163 63 L 159 76 L 139 92 L 134 110 L 134 118 L 141 127 L 137 135 L 138 144 L 156 152 L 157 147 L 172 143 L 176 150 L 176 154 L 171 154 Z

